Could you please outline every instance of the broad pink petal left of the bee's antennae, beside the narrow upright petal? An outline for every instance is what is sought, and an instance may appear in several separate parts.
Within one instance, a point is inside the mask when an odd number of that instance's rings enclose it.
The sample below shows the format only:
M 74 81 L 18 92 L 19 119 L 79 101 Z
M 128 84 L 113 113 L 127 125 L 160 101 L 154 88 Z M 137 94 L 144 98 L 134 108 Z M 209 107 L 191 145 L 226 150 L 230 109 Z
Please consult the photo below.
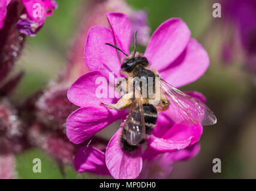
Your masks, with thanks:
M 106 78 L 109 78 L 109 72 L 120 76 L 118 53 L 105 43 L 115 45 L 112 30 L 106 26 L 91 27 L 85 45 L 85 63 L 91 70 L 100 70 Z

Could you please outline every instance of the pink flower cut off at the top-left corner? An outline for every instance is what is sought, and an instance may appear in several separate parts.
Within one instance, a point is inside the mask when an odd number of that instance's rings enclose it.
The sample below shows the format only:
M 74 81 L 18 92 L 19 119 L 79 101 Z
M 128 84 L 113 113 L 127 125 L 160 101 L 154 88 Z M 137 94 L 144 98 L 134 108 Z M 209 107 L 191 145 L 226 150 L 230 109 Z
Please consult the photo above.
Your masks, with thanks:
M 15 2 L 16 0 L 13 0 Z M 11 0 L 0 2 L 0 29 L 4 27 L 7 7 Z M 54 0 L 22 0 L 25 6 L 25 13 L 17 21 L 17 29 L 25 35 L 35 36 L 44 24 L 47 16 L 51 16 L 58 5 Z

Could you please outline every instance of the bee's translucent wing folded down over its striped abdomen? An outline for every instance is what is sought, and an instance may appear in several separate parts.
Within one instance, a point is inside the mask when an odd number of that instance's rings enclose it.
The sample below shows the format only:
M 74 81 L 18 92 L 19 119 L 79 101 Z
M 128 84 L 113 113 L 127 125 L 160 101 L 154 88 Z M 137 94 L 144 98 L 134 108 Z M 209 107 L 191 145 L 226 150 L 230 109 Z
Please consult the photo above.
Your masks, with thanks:
M 131 110 L 124 122 L 125 138 L 130 145 L 140 143 L 146 135 L 140 87 L 135 85 L 134 90 Z

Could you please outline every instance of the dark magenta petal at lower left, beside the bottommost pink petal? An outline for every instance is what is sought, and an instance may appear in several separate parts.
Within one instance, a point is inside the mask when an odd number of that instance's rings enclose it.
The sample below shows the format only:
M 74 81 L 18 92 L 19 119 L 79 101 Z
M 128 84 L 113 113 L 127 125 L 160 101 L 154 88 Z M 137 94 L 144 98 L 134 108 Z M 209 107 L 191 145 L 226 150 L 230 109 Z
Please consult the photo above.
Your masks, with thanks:
M 95 147 L 81 147 L 75 155 L 74 166 L 77 172 L 86 171 L 100 175 L 110 175 L 106 166 L 104 152 Z

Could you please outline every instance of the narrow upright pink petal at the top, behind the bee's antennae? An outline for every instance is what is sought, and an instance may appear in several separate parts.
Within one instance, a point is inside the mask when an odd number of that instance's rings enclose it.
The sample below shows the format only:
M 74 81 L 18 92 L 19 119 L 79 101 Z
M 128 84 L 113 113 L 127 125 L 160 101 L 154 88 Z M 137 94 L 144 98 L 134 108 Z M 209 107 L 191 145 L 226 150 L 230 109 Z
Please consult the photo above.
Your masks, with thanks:
M 131 24 L 123 13 L 107 13 L 107 19 L 115 35 L 116 44 L 122 51 L 129 54 L 129 42 L 131 41 Z M 115 45 L 115 44 L 114 44 Z M 121 60 L 125 57 L 120 53 Z

